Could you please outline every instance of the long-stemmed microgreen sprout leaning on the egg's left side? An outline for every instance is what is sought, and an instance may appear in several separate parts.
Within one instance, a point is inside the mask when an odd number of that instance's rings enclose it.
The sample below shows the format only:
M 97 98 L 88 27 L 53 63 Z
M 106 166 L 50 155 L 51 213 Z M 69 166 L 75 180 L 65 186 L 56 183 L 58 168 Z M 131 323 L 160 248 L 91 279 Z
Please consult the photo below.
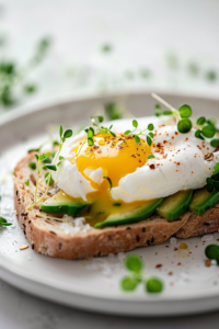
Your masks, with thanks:
M 67 129 L 65 133 L 64 133 L 64 127 L 60 125 L 59 127 L 59 137 L 60 137 L 60 141 L 56 143 L 56 145 L 59 146 L 58 148 L 58 151 L 56 152 L 55 155 L 55 158 L 53 160 L 53 163 L 45 163 L 45 159 L 46 158 L 49 158 L 51 156 L 50 152 L 46 152 L 46 154 L 42 154 L 42 155 L 38 155 L 38 154 L 34 154 L 35 158 L 36 158 L 36 161 L 37 161 L 37 164 L 35 163 L 36 166 L 36 169 L 37 169 L 37 178 L 36 178 L 36 188 L 35 188 L 35 194 L 34 194 L 34 203 L 32 205 L 30 205 L 27 209 L 32 208 L 33 206 L 35 206 L 36 204 L 38 204 L 39 202 L 42 202 L 44 200 L 44 197 L 48 194 L 48 190 L 49 190 L 49 186 L 53 185 L 54 183 L 54 180 L 51 178 L 51 171 L 57 171 L 57 166 L 60 166 L 60 162 L 66 160 L 66 158 L 61 157 L 60 156 L 60 151 L 62 149 L 62 146 L 64 146 L 64 143 L 66 141 L 67 138 L 70 138 L 72 136 L 72 131 L 71 129 Z M 55 145 L 55 146 L 56 146 Z M 45 173 L 44 175 L 44 180 L 46 182 L 46 191 L 45 193 L 37 200 L 37 194 L 38 194 L 38 184 L 41 183 L 39 182 L 39 174 L 42 172 L 43 169 L 46 169 L 46 170 L 49 170 L 48 172 Z M 44 181 L 43 180 L 43 181 Z

